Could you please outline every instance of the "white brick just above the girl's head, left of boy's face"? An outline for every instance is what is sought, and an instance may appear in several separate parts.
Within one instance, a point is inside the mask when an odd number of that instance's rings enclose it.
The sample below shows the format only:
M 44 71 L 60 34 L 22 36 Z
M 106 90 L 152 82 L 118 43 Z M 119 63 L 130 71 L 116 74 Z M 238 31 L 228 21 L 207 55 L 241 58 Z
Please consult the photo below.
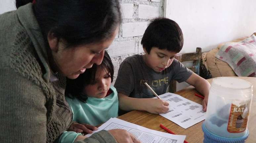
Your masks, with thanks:
M 135 54 L 135 41 L 119 41 L 114 42 L 107 49 L 107 52 L 111 58 L 124 56 L 128 54 Z

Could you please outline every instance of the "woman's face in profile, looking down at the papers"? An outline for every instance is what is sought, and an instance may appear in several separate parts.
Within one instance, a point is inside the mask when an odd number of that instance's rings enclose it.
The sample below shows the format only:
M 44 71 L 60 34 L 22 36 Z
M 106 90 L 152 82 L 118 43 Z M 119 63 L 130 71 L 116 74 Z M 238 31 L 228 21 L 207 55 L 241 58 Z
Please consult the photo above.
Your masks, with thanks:
M 57 66 L 58 72 L 69 79 L 76 79 L 87 68 L 91 68 L 94 63 L 100 65 L 105 49 L 110 46 L 117 33 L 118 27 L 107 40 L 72 48 L 64 48 L 64 44 L 59 42 L 56 45 L 58 49 L 53 50 L 49 43 L 52 49 L 54 64 Z

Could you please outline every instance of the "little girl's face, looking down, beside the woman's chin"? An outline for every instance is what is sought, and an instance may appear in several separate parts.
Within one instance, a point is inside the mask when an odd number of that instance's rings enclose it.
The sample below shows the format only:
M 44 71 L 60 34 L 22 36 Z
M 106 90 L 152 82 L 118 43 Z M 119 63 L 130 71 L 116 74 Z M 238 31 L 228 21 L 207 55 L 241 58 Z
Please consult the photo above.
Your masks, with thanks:
M 87 85 L 83 92 L 88 97 L 104 98 L 111 85 L 111 76 L 105 68 L 98 68 L 95 74 L 95 82 Z

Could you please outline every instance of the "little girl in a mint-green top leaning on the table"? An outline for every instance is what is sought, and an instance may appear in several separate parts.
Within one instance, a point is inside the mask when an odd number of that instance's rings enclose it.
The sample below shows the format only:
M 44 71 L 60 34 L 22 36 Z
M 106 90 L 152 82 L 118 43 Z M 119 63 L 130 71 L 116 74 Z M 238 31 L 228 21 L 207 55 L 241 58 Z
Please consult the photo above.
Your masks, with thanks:
M 78 128 L 76 132 L 91 133 L 91 130 L 97 130 L 94 126 L 118 116 L 117 91 L 111 85 L 113 74 L 113 64 L 105 51 L 100 65 L 94 64 L 77 79 L 67 79 L 65 98 L 73 112 L 72 121 L 84 126 L 72 123 L 71 129 Z M 76 132 L 64 132 L 60 142 L 72 141 Z

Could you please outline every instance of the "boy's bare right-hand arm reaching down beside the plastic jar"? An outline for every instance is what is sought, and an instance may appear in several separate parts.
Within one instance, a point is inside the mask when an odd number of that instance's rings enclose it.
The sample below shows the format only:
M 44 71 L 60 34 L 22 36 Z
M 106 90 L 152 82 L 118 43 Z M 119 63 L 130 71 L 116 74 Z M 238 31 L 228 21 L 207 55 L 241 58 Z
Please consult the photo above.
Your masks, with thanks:
M 203 105 L 203 110 L 206 111 L 209 90 L 211 86 L 210 83 L 195 73 L 192 73 L 192 75 L 186 80 L 186 82 L 194 86 L 195 89 L 204 96 L 202 105 Z

